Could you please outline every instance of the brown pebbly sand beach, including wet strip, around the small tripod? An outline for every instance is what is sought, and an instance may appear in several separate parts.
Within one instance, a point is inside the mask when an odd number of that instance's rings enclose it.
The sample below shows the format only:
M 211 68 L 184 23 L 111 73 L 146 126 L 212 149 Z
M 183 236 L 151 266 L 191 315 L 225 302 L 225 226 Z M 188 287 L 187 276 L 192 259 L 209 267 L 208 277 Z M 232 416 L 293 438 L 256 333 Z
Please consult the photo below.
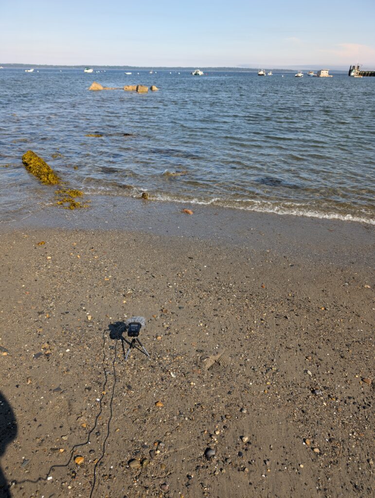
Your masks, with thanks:
M 371 497 L 373 227 L 182 207 L 1 229 L 0 496 Z

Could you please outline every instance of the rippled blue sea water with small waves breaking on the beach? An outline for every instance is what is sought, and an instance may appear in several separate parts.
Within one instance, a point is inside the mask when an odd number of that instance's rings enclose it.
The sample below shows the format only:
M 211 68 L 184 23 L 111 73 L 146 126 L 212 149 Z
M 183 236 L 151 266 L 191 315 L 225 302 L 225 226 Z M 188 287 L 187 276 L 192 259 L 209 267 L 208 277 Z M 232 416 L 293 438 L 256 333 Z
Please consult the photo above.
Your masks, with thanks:
M 54 202 L 22 165 L 31 149 L 88 195 L 375 224 L 375 78 L 131 72 L 0 70 L 2 222 Z

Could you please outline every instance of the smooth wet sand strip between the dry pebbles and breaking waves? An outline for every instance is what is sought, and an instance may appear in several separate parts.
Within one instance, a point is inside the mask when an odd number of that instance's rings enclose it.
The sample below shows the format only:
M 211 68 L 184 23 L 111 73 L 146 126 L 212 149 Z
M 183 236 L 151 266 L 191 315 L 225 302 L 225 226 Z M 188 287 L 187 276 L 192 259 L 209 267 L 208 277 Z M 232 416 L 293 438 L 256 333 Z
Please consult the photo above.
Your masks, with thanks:
M 375 263 L 375 227 L 370 224 L 122 196 L 90 199 L 88 209 L 70 211 L 51 205 L 21 219 L 0 223 L 0 234 L 28 228 L 124 230 L 336 258 L 343 264 L 351 259 L 369 267 Z M 183 209 L 194 214 L 187 215 Z

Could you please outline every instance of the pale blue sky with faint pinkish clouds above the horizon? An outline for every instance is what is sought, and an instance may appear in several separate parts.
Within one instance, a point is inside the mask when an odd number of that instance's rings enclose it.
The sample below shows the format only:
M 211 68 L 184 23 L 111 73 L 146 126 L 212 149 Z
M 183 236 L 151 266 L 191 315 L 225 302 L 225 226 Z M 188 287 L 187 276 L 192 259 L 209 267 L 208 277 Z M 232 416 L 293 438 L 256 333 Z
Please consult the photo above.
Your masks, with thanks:
M 375 1 L 0 0 L 0 63 L 375 67 Z

